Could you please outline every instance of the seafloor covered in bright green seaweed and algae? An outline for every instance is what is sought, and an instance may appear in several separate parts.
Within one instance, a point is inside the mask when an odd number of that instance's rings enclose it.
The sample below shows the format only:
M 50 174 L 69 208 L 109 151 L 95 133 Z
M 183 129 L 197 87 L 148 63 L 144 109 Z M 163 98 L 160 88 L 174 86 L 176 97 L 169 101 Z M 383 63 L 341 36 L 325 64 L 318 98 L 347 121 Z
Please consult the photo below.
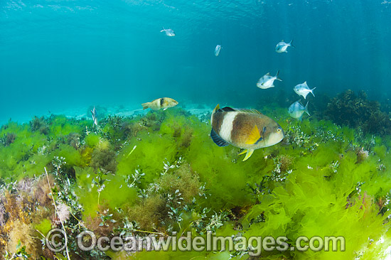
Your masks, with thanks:
M 202 106 L 102 113 L 98 126 L 87 114 L 10 121 L 0 131 L 0 252 L 68 259 L 45 244 L 58 228 L 68 234 L 69 259 L 390 259 L 390 123 L 343 114 L 343 98 L 328 105 L 330 120 L 262 108 L 286 137 L 245 162 L 239 148 L 213 143 L 212 108 Z M 300 236 L 342 236 L 346 251 L 255 258 L 247 250 L 82 251 L 77 234 L 84 230 L 97 237 L 286 236 L 289 245 Z

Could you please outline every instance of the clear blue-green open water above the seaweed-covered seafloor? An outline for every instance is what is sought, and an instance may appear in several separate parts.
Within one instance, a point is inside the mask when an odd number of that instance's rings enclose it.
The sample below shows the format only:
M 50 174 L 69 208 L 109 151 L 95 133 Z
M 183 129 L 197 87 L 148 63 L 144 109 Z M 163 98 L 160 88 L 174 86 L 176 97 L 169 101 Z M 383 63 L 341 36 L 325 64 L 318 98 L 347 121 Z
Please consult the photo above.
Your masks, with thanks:
M 305 80 L 387 99 L 390 24 L 384 0 L 2 0 L 0 122 L 158 97 L 251 107 Z M 296 48 L 276 53 L 282 39 Z M 277 70 L 283 82 L 256 87 Z

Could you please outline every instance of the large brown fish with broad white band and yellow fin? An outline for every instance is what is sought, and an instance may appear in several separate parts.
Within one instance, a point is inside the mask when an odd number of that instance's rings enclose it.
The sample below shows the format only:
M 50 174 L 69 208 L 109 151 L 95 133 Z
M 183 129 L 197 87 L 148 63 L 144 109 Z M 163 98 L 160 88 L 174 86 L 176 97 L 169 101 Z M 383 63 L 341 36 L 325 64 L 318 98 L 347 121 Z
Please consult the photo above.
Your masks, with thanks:
M 284 139 L 284 131 L 276 121 L 255 109 L 233 109 L 219 105 L 213 109 L 210 118 L 210 137 L 218 146 L 232 146 L 245 149 L 246 161 L 255 149 L 273 146 Z

